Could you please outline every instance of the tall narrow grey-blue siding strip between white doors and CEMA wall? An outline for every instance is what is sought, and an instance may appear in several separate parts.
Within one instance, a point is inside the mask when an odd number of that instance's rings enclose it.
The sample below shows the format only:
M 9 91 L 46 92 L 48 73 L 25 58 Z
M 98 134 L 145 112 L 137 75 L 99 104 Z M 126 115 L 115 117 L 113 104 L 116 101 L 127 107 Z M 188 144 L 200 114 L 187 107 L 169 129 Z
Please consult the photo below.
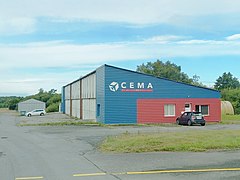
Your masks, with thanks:
M 100 106 L 97 121 L 104 123 L 105 119 L 105 66 L 101 66 L 96 70 L 96 99 L 97 105 Z

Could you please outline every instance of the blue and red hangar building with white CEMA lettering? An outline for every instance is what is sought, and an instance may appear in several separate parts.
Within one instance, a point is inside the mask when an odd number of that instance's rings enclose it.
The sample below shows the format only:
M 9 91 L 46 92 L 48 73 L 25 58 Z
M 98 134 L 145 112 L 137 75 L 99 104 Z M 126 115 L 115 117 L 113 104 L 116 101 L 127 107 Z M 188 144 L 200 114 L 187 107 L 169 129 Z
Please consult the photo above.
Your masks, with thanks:
M 62 111 L 104 124 L 173 123 L 184 111 L 221 120 L 220 92 L 103 65 L 62 89 Z

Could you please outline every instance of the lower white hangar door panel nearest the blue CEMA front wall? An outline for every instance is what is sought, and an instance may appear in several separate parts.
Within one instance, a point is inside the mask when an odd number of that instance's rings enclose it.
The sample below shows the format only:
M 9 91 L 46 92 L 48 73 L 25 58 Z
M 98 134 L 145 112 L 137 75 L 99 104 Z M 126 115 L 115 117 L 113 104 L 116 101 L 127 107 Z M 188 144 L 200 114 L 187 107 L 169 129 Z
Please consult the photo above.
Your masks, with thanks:
M 83 99 L 83 119 L 96 120 L 96 99 Z

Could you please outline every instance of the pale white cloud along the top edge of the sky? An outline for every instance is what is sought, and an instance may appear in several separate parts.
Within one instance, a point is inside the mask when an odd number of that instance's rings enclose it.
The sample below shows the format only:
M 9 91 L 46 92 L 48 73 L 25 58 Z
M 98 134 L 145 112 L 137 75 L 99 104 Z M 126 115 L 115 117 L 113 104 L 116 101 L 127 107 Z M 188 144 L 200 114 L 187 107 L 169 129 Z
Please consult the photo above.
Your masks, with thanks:
M 217 8 L 216 8 L 217 4 Z M 34 30 L 39 17 L 132 24 L 174 23 L 177 17 L 240 13 L 229 0 L 8 0 L 0 3 L 0 32 Z M 35 20 L 34 20 L 35 19 Z

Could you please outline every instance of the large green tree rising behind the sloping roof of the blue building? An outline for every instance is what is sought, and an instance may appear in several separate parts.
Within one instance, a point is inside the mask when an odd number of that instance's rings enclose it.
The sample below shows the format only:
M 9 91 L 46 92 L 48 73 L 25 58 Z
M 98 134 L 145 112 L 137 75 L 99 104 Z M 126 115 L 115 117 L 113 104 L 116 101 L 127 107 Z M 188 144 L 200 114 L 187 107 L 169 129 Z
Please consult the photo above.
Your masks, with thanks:
M 181 71 L 181 66 L 177 66 L 170 61 L 165 63 L 160 60 L 157 60 L 156 62 L 147 62 L 146 64 L 137 66 L 137 71 L 178 82 L 184 82 L 188 84 L 194 83 L 193 79 L 189 78 L 187 74 Z

